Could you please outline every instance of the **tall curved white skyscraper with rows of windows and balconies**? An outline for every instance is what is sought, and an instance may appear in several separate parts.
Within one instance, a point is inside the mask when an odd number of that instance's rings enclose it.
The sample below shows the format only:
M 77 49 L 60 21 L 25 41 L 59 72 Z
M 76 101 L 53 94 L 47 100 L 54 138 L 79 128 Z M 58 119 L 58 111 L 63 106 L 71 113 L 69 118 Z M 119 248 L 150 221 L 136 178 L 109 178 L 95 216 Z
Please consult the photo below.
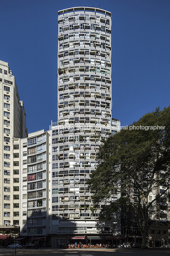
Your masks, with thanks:
M 120 128 L 111 117 L 111 13 L 75 7 L 59 11 L 58 22 L 58 122 L 51 126 L 53 246 L 75 235 L 83 240 L 101 233 L 96 227 L 100 209 L 93 210 L 86 181 L 100 145 Z

